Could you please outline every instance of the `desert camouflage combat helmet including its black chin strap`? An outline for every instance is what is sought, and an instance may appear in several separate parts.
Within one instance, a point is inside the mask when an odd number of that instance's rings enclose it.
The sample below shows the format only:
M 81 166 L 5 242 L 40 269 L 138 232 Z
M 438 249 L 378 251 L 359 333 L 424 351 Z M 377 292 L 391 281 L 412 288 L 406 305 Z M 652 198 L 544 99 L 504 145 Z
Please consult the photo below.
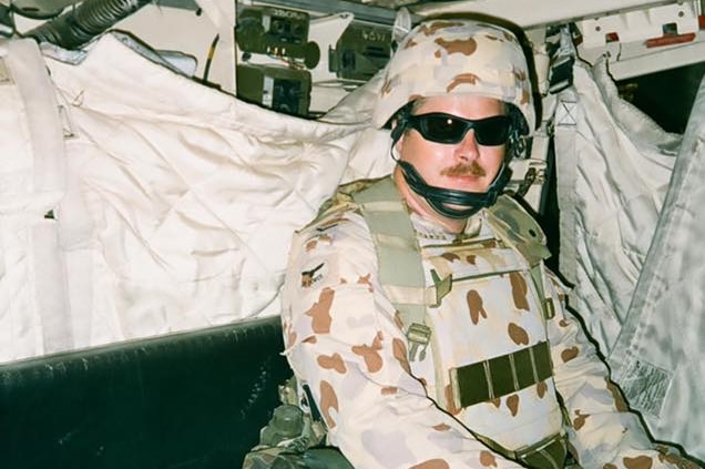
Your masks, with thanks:
M 486 193 L 429 186 L 411 164 L 397 161 L 411 190 L 437 212 L 463 218 L 497 201 L 511 177 L 509 159 L 523 152 L 524 137 L 535 126 L 529 67 L 517 35 L 503 27 L 468 18 L 417 24 L 387 64 L 372 125 L 381 129 L 395 121 L 391 137 L 396 142 L 407 129 L 413 101 L 445 94 L 503 101 L 512 118 L 507 161 Z

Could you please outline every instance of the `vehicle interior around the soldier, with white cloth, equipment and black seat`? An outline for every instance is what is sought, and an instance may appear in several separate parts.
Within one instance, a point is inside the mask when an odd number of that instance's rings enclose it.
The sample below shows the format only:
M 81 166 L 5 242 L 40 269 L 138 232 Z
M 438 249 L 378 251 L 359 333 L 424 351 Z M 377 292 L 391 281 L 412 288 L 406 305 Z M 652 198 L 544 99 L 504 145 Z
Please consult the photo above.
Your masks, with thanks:
M 290 235 L 389 173 L 381 73 L 448 13 L 523 31 L 509 191 L 653 437 L 705 460 L 702 0 L 0 0 L 1 467 L 241 467 L 290 376 Z

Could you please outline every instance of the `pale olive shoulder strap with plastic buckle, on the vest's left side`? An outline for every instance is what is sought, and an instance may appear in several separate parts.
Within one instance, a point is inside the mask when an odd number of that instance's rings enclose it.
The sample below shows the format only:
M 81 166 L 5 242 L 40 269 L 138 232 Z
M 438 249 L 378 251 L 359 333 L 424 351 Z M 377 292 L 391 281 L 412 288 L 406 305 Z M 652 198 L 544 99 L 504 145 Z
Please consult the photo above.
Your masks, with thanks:
M 430 339 L 426 307 L 438 298 L 436 288 L 426 287 L 421 249 L 409 214 L 391 177 L 355 193 L 352 200 L 372 235 L 385 294 L 401 315 L 410 341 L 409 359 L 423 359 Z

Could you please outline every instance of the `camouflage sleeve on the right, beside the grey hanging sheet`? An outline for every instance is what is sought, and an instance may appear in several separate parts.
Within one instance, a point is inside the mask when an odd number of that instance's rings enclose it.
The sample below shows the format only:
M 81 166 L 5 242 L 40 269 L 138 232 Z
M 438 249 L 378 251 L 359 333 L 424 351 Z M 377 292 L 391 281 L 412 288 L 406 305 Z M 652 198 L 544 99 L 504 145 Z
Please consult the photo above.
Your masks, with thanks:
M 564 287 L 552 275 L 546 285 L 553 303 L 563 305 Z M 563 305 L 564 306 L 564 305 Z M 631 412 L 607 367 L 578 319 L 564 307 L 549 322 L 555 385 L 563 398 L 571 452 L 580 467 L 601 469 L 697 468 L 676 453 L 666 453 L 648 438 Z

